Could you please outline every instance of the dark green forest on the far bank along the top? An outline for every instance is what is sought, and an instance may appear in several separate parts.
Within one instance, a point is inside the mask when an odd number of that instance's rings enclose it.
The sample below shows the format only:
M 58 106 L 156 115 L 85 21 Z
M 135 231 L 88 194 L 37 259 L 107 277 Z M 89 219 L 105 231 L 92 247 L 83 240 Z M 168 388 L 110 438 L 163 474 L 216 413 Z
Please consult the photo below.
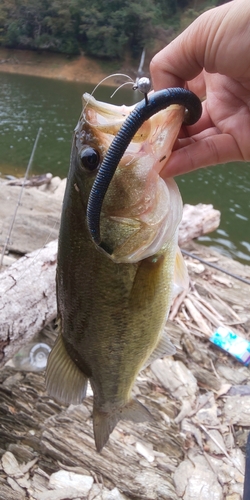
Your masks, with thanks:
M 223 0 L 1 0 L 0 46 L 121 59 Z

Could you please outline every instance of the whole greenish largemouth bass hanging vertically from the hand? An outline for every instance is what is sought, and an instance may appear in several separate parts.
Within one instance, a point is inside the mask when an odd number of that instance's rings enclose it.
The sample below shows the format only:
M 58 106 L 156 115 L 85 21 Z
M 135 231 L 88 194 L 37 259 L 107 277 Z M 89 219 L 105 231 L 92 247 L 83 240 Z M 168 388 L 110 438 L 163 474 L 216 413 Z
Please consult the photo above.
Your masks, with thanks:
M 143 367 L 175 352 L 163 328 L 174 275 L 186 280 L 177 246 L 181 196 L 173 179 L 159 175 L 183 122 L 183 106 L 145 121 L 121 157 L 101 208 L 102 248 L 87 227 L 93 182 L 132 110 L 84 94 L 59 235 L 59 336 L 48 360 L 47 390 L 63 403 L 80 404 L 90 381 L 98 451 L 120 419 L 152 419 L 131 391 Z

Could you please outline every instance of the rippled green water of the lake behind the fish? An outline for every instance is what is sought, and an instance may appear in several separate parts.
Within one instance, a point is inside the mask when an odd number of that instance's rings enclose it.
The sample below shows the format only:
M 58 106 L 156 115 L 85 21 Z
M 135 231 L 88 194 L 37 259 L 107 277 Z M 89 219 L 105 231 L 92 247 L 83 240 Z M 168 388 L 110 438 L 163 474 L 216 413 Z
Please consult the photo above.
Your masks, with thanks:
M 65 177 L 71 138 L 81 112 L 81 95 L 93 85 L 0 73 L 0 172 L 25 172 L 39 127 L 42 134 L 32 172 Z M 110 101 L 113 89 L 101 86 L 97 99 Z M 121 89 L 111 102 L 132 104 L 132 90 Z M 250 263 L 250 164 L 231 163 L 177 179 L 184 203 L 212 203 L 221 225 L 199 240 L 225 255 Z

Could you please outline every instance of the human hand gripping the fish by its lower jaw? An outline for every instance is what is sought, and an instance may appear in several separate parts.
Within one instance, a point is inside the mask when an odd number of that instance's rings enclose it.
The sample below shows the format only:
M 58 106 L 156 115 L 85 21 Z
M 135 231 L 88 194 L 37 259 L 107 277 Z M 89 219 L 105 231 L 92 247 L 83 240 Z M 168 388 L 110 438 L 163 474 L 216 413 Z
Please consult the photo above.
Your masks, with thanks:
M 185 86 L 206 96 L 201 119 L 181 130 L 163 178 L 250 160 L 249 0 L 202 14 L 156 54 L 150 70 L 154 90 Z

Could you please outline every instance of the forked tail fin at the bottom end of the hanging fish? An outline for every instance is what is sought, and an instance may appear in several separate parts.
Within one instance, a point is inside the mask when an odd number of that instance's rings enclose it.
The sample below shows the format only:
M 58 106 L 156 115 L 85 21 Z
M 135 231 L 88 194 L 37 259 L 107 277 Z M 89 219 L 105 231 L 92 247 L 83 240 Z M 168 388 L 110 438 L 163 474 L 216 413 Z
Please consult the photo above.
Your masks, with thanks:
M 110 413 L 100 411 L 94 403 L 93 427 L 95 445 L 98 452 L 107 443 L 111 432 L 114 430 L 119 420 L 132 420 L 133 422 L 153 422 L 154 418 L 150 411 L 137 399 L 131 399 L 125 406 Z

